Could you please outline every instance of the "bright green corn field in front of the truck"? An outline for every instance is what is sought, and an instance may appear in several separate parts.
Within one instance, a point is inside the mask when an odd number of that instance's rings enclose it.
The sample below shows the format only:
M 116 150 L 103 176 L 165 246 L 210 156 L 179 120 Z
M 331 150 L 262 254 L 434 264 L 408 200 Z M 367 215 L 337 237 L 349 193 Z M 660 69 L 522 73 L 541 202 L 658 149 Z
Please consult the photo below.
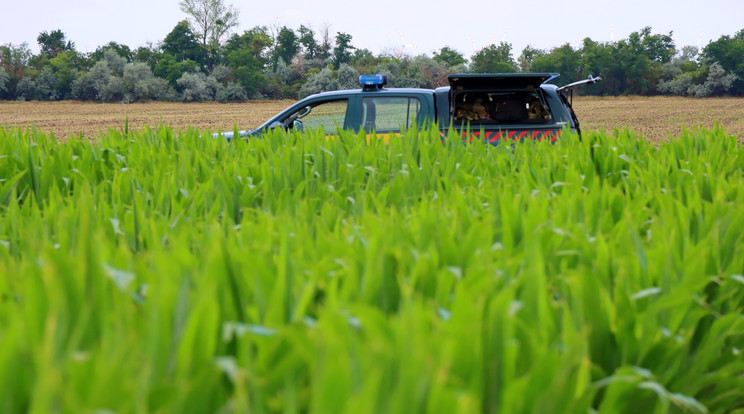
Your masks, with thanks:
M 742 352 L 720 128 L 0 127 L 0 412 L 744 413 Z

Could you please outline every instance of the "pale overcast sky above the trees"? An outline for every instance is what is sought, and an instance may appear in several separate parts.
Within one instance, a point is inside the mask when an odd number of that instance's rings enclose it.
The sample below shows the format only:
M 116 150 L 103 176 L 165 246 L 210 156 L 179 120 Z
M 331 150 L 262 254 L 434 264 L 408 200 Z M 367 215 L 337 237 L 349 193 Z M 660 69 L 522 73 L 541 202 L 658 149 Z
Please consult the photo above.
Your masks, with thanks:
M 79 51 L 110 41 L 131 48 L 161 41 L 187 16 L 179 0 L 3 0 L 0 44 L 23 42 L 38 51 L 42 31 L 61 29 Z M 512 44 L 514 57 L 531 45 L 550 49 L 581 39 L 621 40 L 644 26 L 669 33 L 678 50 L 704 47 L 744 29 L 744 0 L 227 0 L 240 11 L 238 32 L 257 25 L 301 24 L 352 36 L 374 53 L 428 54 L 448 45 L 469 58 L 492 43 Z

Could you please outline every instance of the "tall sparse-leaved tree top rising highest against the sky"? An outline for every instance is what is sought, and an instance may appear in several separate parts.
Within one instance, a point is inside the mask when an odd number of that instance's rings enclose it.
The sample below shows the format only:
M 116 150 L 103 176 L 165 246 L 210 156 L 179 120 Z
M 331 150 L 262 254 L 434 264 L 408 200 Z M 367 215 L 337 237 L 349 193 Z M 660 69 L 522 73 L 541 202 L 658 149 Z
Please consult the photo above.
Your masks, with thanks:
M 238 25 L 238 11 L 223 0 L 181 0 L 178 4 L 191 17 L 191 27 L 207 49 L 219 46 L 222 37 Z

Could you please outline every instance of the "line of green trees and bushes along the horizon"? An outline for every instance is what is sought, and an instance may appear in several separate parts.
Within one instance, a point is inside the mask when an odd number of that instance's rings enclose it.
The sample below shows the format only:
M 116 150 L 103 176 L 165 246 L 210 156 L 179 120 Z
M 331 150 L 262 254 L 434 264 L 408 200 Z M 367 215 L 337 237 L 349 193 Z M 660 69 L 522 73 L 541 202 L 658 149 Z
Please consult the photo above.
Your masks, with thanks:
M 207 10 L 209 4 L 217 9 Z M 237 25 L 232 6 L 215 0 L 183 0 L 190 16 L 158 44 L 132 49 L 110 42 L 82 53 L 61 30 L 28 44 L 0 46 L 0 99 L 101 102 L 244 101 L 296 99 L 358 87 L 359 74 L 387 74 L 390 86 L 435 88 L 459 72 L 558 72 L 561 84 L 603 77 L 582 93 L 597 95 L 744 95 L 744 30 L 721 36 L 699 50 L 676 47 L 672 33 L 650 27 L 627 39 L 550 50 L 491 44 L 466 58 L 450 46 L 432 56 L 396 50 L 372 53 L 355 47 L 348 33 L 329 26 L 256 26 L 229 35 Z

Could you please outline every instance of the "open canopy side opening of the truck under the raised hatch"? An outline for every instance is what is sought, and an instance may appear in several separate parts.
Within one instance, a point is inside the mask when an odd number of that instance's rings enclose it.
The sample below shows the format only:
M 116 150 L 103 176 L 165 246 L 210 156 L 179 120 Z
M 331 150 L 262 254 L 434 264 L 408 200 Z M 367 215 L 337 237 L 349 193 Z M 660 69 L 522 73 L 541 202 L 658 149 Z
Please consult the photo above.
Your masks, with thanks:
M 455 94 L 457 124 L 544 124 L 552 120 L 538 91 L 465 91 Z

